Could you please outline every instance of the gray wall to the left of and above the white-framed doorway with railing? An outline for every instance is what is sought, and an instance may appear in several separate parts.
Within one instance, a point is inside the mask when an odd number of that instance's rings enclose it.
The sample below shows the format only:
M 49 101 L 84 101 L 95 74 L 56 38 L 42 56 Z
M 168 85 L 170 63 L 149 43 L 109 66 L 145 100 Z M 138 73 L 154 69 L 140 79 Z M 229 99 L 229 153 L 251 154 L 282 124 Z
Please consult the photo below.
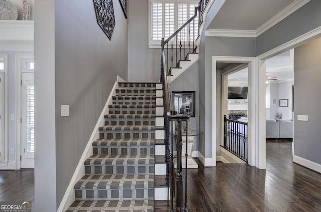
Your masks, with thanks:
M 200 131 L 204 134 L 204 140 L 199 142 L 199 151 L 206 158 L 212 157 L 212 56 L 253 57 L 255 56 L 255 48 L 255 38 L 204 37 L 201 40 L 201 52 L 199 54 L 199 107 Z M 202 52 L 203 49 L 204 53 Z M 221 85 L 221 73 L 217 75 L 217 78 L 217 83 Z M 220 107 L 220 95 L 217 95 L 216 101 L 217 107 Z M 217 109 L 217 112 L 220 111 L 221 108 Z M 221 116 L 221 113 L 217 115 Z M 218 126 L 216 130 L 220 135 Z M 217 143 L 220 143 L 220 138 L 220 136 L 217 137 L 219 139 Z

